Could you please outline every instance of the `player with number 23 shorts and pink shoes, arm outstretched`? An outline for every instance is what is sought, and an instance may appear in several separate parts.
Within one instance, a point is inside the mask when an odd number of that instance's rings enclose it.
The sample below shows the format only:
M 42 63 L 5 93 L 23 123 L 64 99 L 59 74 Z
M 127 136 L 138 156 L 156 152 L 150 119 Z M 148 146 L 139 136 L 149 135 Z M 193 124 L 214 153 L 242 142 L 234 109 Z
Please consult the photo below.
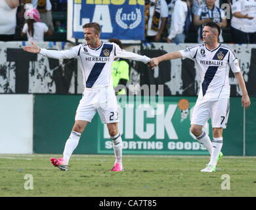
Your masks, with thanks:
M 86 43 L 66 51 L 40 49 L 33 42 L 32 46 L 24 47 L 24 51 L 43 54 L 49 58 L 77 58 L 83 72 L 85 90 L 77 107 L 74 127 L 66 141 L 63 158 L 51 158 L 51 163 L 62 171 L 68 170 L 68 162 L 81 134 L 98 112 L 102 123 L 106 123 L 113 142 L 116 161 L 110 171 L 123 171 L 122 139 L 117 128 L 119 116 L 111 77 L 112 62 L 114 58 L 127 58 L 147 64 L 150 58 L 124 51 L 115 43 L 100 41 L 100 25 L 96 22 L 85 24 L 83 30 Z

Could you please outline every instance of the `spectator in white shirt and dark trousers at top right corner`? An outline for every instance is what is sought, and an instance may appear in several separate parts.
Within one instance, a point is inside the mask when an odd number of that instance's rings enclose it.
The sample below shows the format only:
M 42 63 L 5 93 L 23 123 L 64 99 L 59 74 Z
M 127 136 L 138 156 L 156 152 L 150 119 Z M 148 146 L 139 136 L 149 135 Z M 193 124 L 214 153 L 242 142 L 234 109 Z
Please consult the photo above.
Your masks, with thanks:
M 256 1 L 233 1 L 231 35 L 234 43 L 256 43 Z

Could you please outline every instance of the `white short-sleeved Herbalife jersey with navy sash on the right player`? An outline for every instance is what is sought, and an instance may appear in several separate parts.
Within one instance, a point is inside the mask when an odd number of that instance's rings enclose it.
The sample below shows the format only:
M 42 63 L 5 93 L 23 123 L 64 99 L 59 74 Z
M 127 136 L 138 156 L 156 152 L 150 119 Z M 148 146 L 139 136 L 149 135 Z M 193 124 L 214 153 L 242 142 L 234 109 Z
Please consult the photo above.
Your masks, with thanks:
M 200 71 L 201 84 L 198 98 L 229 98 L 229 70 L 240 72 L 234 51 L 224 45 L 210 51 L 205 44 L 188 47 L 182 51 L 182 59 L 190 58 Z

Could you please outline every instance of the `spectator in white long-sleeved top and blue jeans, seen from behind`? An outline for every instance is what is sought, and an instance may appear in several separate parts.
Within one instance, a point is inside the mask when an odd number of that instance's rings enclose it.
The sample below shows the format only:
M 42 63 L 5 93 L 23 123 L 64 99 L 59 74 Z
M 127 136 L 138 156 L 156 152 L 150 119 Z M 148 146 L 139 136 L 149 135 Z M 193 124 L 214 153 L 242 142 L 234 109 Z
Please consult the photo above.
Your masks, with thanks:
M 190 15 L 190 11 L 186 0 L 176 0 L 171 14 L 171 28 L 169 36 L 167 37 L 167 42 L 184 43 L 186 37 L 185 23 L 187 14 Z M 190 18 L 190 16 L 188 18 Z

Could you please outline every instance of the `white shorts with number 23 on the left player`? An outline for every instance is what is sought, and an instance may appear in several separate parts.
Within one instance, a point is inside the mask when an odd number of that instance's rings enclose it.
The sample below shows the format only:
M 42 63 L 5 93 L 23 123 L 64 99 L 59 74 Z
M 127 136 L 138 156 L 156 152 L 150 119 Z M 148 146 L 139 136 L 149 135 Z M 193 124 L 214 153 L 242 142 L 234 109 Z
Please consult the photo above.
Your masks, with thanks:
M 85 88 L 75 114 L 75 121 L 91 122 L 98 112 L 102 123 L 119 122 L 116 94 L 113 87 L 104 89 Z

